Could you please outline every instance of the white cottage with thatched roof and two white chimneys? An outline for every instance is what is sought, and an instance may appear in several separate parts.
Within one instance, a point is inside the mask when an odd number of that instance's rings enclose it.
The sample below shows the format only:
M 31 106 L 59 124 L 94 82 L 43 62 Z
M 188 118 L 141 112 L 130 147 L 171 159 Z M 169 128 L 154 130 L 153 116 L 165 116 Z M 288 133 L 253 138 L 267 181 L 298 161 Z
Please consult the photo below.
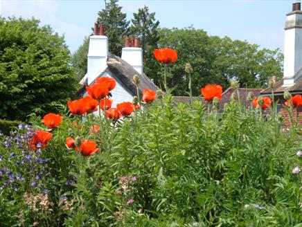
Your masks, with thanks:
M 112 107 L 120 102 L 132 102 L 136 96 L 136 86 L 133 76 L 139 75 L 139 93 L 144 89 L 157 91 L 159 88 L 143 73 L 143 50 L 139 38 L 126 37 L 122 56 L 109 53 L 108 38 L 105 36 L 103 24 L 94 24 L 94 35 L 89 37 L 89 51 L 87 59 L 87 73 L 80 81 L 83 85 L 80 96 L 87 96 L 86 86 L 94 84 L 96 78 L 110 77 L 116 80 L 116 87 L 112 90 Z

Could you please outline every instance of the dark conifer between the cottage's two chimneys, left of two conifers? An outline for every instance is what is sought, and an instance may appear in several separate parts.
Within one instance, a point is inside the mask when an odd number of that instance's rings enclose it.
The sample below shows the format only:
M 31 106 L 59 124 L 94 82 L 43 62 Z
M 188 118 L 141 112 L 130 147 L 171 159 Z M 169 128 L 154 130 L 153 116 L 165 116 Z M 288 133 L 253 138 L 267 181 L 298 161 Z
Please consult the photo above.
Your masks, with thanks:
M 105 9 L 98 12 L 98 22 L 105 26 L 105 35 L 109 41 L 109 51 L 114 55 L 121 56 L 125 37 L 129 33 L 129 21 L 122 7 L 118 6 L 118 0 L 110 0 Z

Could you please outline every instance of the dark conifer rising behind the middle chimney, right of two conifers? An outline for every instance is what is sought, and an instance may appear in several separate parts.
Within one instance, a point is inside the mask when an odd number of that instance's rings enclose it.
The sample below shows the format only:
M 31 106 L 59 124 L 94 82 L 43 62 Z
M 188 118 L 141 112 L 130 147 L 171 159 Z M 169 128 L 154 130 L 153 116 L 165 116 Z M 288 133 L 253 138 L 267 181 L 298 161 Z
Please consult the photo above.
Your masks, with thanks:
M 139 12 L 133 14 L 130 32 L 141 39 L 143 49 L 143 71 L 150 78 L 155 77 L 154 69 L 157 62 L 154 60 L 153 50 L 159 42 L 159 21 L 155 19 L 155 12 L 149 12 L 148 6 L 139 8 Z

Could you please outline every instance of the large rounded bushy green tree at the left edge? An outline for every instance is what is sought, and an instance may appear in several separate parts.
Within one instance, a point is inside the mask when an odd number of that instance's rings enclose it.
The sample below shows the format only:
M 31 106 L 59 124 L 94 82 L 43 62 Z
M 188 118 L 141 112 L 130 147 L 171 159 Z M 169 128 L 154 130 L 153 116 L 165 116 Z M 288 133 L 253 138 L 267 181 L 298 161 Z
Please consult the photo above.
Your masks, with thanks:
M 69 50 L 37 19 L 0 18 L 0 118 L 56 112 L 75 96 Z

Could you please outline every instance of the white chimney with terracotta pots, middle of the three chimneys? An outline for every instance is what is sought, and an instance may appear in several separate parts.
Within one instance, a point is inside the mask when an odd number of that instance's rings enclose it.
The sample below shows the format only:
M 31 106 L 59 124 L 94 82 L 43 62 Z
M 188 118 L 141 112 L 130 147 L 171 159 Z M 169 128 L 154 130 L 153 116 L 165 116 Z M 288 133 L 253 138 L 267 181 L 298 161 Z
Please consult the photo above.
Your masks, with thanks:
M 139 38 L 126 37 L 125 47 L 122 49 L 122 57 L 125 62 L 130 64 L 138 73 L 143 73 L 143 49 Z

